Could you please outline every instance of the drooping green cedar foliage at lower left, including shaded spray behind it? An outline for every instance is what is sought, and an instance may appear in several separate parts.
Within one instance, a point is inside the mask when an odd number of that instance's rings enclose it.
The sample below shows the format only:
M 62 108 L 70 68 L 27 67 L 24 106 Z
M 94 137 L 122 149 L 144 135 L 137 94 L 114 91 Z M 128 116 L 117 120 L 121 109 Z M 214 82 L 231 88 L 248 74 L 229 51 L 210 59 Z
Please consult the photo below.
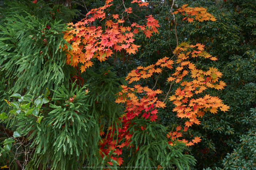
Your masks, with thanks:
M 88 86 L 82 88 L 73 83 L 71 90 L 62 85 L 54 91 L 52 102 L 41 107 L 44 116 L 41 123 L 33 115 L 9 113 L 5 120 L 8 129 L 21 133 L 30 141 L 29 169 L 79 169 L 84 166 L 105 166 L 109 160 L 102 160 L 99 154 L 100 127 L 118 125 L 122 107 L 117 105 L 115 93 L 120 89 L 120 78 L 115 73 L 102 70 L 99 74 L 88 71 Z M 76 86 L 76 87 L 74 87 Z M 86 92 L 87 90 L 88 93 Z M 47 91 L 46 91 L 47 92 Z M 20 103 L 20 105 L 23 105 Z M 5 158 L 6 152 L 3 153 Z M 9 152 L 10 160 L 17 159 L 15 152 Z M 24 158 L 19 158 L 24 161 Z M 1 162 L 15 168 L 15 163 Z M 102 169 L 102 168 L 99 168 Z

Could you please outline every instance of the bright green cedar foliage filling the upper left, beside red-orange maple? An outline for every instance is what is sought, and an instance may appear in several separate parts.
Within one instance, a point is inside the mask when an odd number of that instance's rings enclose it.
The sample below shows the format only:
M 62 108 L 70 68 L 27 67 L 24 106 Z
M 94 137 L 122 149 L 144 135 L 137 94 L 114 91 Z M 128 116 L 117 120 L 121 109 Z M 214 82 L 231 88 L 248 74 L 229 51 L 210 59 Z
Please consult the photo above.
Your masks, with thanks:
M 50 8 L 27 0 L 7 4 L 1 13 L 0 65 L 8 94 L 39 96 L 45 88 L 57 90 L 62 83 L 68 86 L 72 68 L 65 64 L 61 47 L 70 45 L 62 31 L 67 14 L 74 16 L 74 12 L 61 5 Z

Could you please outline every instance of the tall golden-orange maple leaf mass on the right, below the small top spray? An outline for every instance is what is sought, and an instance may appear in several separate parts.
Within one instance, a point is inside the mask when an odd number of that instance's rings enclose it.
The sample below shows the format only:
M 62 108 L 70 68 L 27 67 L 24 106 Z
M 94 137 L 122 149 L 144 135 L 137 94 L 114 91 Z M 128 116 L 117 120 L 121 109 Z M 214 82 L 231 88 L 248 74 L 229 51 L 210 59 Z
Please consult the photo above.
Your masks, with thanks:
M 189 45 L 186 42 L 182 42 L 174 50 L 177 55 L 177 63 L 180 63 L 180 67 L 177 67 L 176 72 L 173 73 L 167 80 L 169 82 L 180 83 L 181 87 L 177 88 L 175 94 L 169 97 L 170 101 L 176 106 L 173 111 L 177 112 L 177 116 L 180 118 L 187 118 L 185 121 L 185 128 L 192 126 L 193 124 L 200 124 L 199 117 L 203 117 L 204 113 L 210 111 L 211 113 L 217 113 L 218 109 L 227 111 L 229 106 L 224 105 L 222 100 L 218 97 L 212 97 L 205 95 L 204 97 L 198 97 L 198 94 L 205 91 L 207 88 L 215 88 L 217 90 L 223 89 L 226 84 L 223 81 L 219 81 L 222 73 L 216 68 L 209 68 L 207 71 L 197 69 L 195 64 L 189 61 L 189 58 L 203 57 L 210 60 L 217 60 L 215 57 L 210 56 L 204 52 L 204 45 L 196 44 Z M 190 76 L 191 81 L 186 81 L 183 78 Z M 180 137 L 180 132 L 170 132 L 169 137 L 177 139 Z M 197 141 L 195 139 L 195 141 Z M 187 145 L 192 145 L 194 142 L 189 142 Z

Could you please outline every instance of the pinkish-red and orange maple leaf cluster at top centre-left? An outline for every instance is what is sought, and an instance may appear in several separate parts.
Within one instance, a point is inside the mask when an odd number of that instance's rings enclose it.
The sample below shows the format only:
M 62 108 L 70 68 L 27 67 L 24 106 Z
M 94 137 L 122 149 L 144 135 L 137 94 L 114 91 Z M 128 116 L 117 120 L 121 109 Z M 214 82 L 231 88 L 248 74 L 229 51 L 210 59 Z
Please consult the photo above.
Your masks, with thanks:
M 72 50 L 68 51 L 66 63 L 72 66 L 77 66 L 78 63 L 83 64 L 80 71 L 84 72 L 86 68 L 93 65 L 92 58 L 97 58 L 99 61 L 105 61 L 113 54 L 113 51 L 121 52 L 125 50 L 129 54 L 138 52 L 138 45 L 133 44 L 133 37 L 139 31 L 143 31 L 146 37 L 150 37 L 152 33 L 158 33 L 158 21 L 152 15 L 147 16 L 146 25 L 138 25 L 133 23 L 131 27 L 124 27 L 125 20 L 119 15 L 113 14 L 106 16 L 108 8 L 113 0 L 107 0 L 103 7 L 92 9 L 86 14 L 87 18 L 79 21 L 76 24 L 69 23 L 69 31 L 65 32 L 64 38 L 71 43 Z M 133 3 L 138 3 L 140 6 L 147 5 L 141 0 L 135 0 Z M 124 12 L 128 14 L 132 12 L 132 8 L 127 8 Z M 113 19 L 112 19 L 113 18 Z M 105 29 L 102 26 L 92 26 L 95 20 L 106 20 Z M 67 46 L 64 46 L 64 50 Z

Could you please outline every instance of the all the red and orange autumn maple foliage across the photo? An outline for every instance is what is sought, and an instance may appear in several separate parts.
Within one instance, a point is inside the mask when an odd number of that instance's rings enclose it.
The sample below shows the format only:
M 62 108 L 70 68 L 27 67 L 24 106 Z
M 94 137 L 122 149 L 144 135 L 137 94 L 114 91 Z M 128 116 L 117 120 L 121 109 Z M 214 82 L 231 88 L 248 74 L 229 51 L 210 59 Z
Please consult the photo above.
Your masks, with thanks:
M 72 46 L 72 50 L 67 51 L 67 64 L 71 64 L 74 67 L 77 67 L 79 63 L 82 64 L 80 67 L 81 72 L 93 65 L 92 58 L 105 61 L 116 52 L 125 51 L 129 54 L 138 52 L 140 46 L 133 43 L 135 34 L 142 31 L 147 38 L 150 38 L 153 33 L 158 33 L 158 21 L 151 15 L 146 16 L 146 24 L 131 23 L 130 26 L 123 26 L 126 20 L 121 15 L 106 15 L 106 11 L 112 5 L 111 2 L 112 0 L 106 0 L 103 7 L 91 10 L 87 13 L 87 18 L 78 23 L 69 23 L 70 30 L 64 36 Z M 141 0 L 133 0 L 132 3 L 137 3 L 139 7 L 148 5 L 148 3 Z M 129 16 L 132 13 L 132 8 L 125 8 L 124 12 Z M 183 5 L 173 14 L 178 12 L 184 15 L 183 20 L 188 22 L 193 22 L 194 20 L 199 22 L 216 20 L 205 8 L 190 8 L 187 5 Z M 105 20 L 105 25 L 96 27 L 93 24 L 95 20 Z M 65 49 L 67 49 L 67 46 L 64 46 Z M 158 108 L 165 107 L 167 98 L 175 105 L 173 111 L 177 113 L 177 117 L 185 119 L 183 122 L 185 126 L 177 126 L 176 131 L 167 134 L 170 139 L 167 142 L 173 145 L 174 141 L 179 140 L 190 146 L 201 140 L 197 136 L 192 141 L 183 139 L 182 132 L 187 131 L 189 126 L 193 124 L 199 125 L 199 117 L 203 117 L 205 112 L 210 111 L 215 114 L 218 109 L 227 111 L 229 107 L 224 105 L 218 97 L 210 95 L 202 97 L 206 89 L 215 88 L 220 90 L 224 88 L 225 83 L 219 80 L 222 76 L 221 72 L 216 68 L 208 68 L 208 70 L 204 71 L 197 68 L 192 62 L 194 58 L 198 60 L 217 60 L 216 57 L 212 57 L 204 50 L 203 44 L 192 45 L 182 42 L 173 51 L 172 57 L 165 56 L 155 64 L 147 67 L 138 67 L 128 74 L 126 80 L 131 84 L 148 79 L 152 75 L 159 75 L 163 68 L 174 69 L 175 72 L 167 77 L 166 81 L 169 82 L 170 89 L 174 83 L 179 84 L 180 87 L 176 89 L 175 94 L 170 95 L 167 92 L 163 97 L 163 91 L 159 89 L 153 90 L 140 84 L 136 84 L 132 88 L 122 86 L 123 91 L 119 92 L 116 99 L 117 103 L 126 103 L 125 112 L 120 117 L 122 125 L 118 129 L 110 126 L 108 134 L 101 132 L 101 135 L 104 136 L 99 143 L 102 158 L 105 155 L 109 155 L 110 151 L 113 151 L 114 154 L 110 155 L 110 158 L 121 165 L 123 162 L 120 156 L 122 148 L 135 147 L 130 145 L 133 134 L 127 130 L 134 125 L 131 120 L 135 117 L 143 117 L 151 122 L 156 121 L 158 119 Z M 159 96 L 163 97 L 163 99 L 158 99 Z M 147 127 L 141 126 L 140 128 L 143 131 Z M 137 150 L 139 150 L 139 147 Z M 109 162 L 109 164 L 113 165 L 112 162 Z

